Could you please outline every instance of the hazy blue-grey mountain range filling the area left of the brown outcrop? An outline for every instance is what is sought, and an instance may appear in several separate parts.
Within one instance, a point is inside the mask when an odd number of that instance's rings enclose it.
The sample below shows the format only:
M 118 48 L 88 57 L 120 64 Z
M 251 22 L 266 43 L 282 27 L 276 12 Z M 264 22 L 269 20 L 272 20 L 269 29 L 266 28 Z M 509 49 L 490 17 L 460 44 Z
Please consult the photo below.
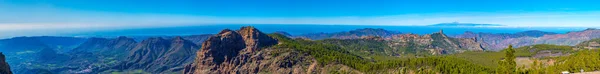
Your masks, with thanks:
M 134 70 L 169 73 L 179 72 L 183 67 L 182 64 L 191 62 L 192 55 L 195 54 L 192 52 L 200 48 L 195 42 L 201 43 L 205 40 L 203 39 L 206 38 L 205 36 L 208 37 L 208 35 L 176 36 L 170 37 L 172 39 L 169 40 L 145 37 L 147 39 L 139 43 L 134 38 L 124 36 L 117 38 L 42 36 L 3 39 L 0 43 L 4 43 L 2 45 L 6 47 L 2 50 L 10 50 L 10 52 L 3 52 L 12 55 L 8 57 L 7 62 L 16 65 L 11 67 L 14 69 L 13 72 L 18 74 L 110 73 Z M 65 50 L 58 51 L 62 49 Z

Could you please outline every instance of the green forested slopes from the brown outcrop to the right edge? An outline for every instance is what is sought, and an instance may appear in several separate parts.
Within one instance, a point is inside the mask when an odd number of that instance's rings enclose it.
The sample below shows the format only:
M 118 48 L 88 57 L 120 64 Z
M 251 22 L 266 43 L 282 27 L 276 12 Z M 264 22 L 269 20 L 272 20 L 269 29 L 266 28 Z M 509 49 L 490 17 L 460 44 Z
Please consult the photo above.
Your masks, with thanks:
M 600 53 L 598 50 L 574 51 L 570 46 L 541 44 L 520 48 L 509 46 L 502 52 L 465 52 L 420 57 L 385 57 L 385 55 L 375 57 L 377 54 L 389 54 L 389 52 L 385 52 L 389 48 L 382 48 L 386 45 L 368 40 L 326 39 L 311 41 L 290 39 L 279 34 L 270 36 L 282 42 L 274 46 L 275 48 L 295 49 L 313 56 L 321 65 L 343 64 L 366 73 L 400 70 L 397 72 L 425 74 L 554 74 L 561 71 L 600 70 Z M 370 54 L 364 53 L 364 51 L 370 51 Z M 534 61 L 533 65 L 527 68 L 517 68 L 516 57 L 530 57 L 536 55 L 539 51 L 559 51 L 570 55 L 553 58 L 531 58 Z M 552 60 L 554 63 L 542 63 L 539 61 L 542 59 Z

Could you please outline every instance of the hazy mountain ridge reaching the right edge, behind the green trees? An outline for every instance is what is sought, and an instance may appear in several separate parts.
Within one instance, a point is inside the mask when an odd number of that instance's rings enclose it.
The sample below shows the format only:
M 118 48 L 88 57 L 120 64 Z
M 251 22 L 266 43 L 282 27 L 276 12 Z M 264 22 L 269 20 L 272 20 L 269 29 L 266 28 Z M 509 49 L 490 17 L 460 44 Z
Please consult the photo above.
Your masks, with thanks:
M 458 38 L 477 38 L 484 47 L 492 50 L 500 50 L 508 45 L 514 47 L 529 46 L 535 44 L 553 44 L 575 46 L 584 41 L 600 38 L 600 30 L 590 28 L 583 31 L 573 31 L 566 34 L 557 34 L 541 31 L 525 31 L 515 34 L 489 34 L 489 33 L 465 33 Z

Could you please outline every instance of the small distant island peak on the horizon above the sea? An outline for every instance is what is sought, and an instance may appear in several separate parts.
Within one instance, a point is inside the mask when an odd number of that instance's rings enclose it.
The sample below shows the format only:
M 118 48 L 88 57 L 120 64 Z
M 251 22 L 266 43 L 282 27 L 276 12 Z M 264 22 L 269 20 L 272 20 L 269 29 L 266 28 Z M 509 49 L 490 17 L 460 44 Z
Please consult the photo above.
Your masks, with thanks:
M 476 23 L 452 22 L 452 23 L 439 23 L 439 24 L 433 24 L 433 25 L 427 25 L 427 26 L 437 26 L 437 27 L 498 27 L 498 26 L 504 26 L 504 25 L 500 25 L 500 24 L 476 24 Z

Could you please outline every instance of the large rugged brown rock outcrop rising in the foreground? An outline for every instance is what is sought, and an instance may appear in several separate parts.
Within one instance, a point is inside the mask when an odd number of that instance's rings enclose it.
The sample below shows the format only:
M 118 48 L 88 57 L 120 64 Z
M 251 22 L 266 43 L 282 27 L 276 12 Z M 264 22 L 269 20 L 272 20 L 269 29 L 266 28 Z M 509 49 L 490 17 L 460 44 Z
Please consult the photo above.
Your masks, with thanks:
M 184 73 L 258 73 L 260 61 L 267 56 L 263 55 L 266 50 L 261 49 L 277 43 L 254 27 L 242 27 L 238 31 L 225 29 L 202 44 L 196 60 L 186 66 Z

